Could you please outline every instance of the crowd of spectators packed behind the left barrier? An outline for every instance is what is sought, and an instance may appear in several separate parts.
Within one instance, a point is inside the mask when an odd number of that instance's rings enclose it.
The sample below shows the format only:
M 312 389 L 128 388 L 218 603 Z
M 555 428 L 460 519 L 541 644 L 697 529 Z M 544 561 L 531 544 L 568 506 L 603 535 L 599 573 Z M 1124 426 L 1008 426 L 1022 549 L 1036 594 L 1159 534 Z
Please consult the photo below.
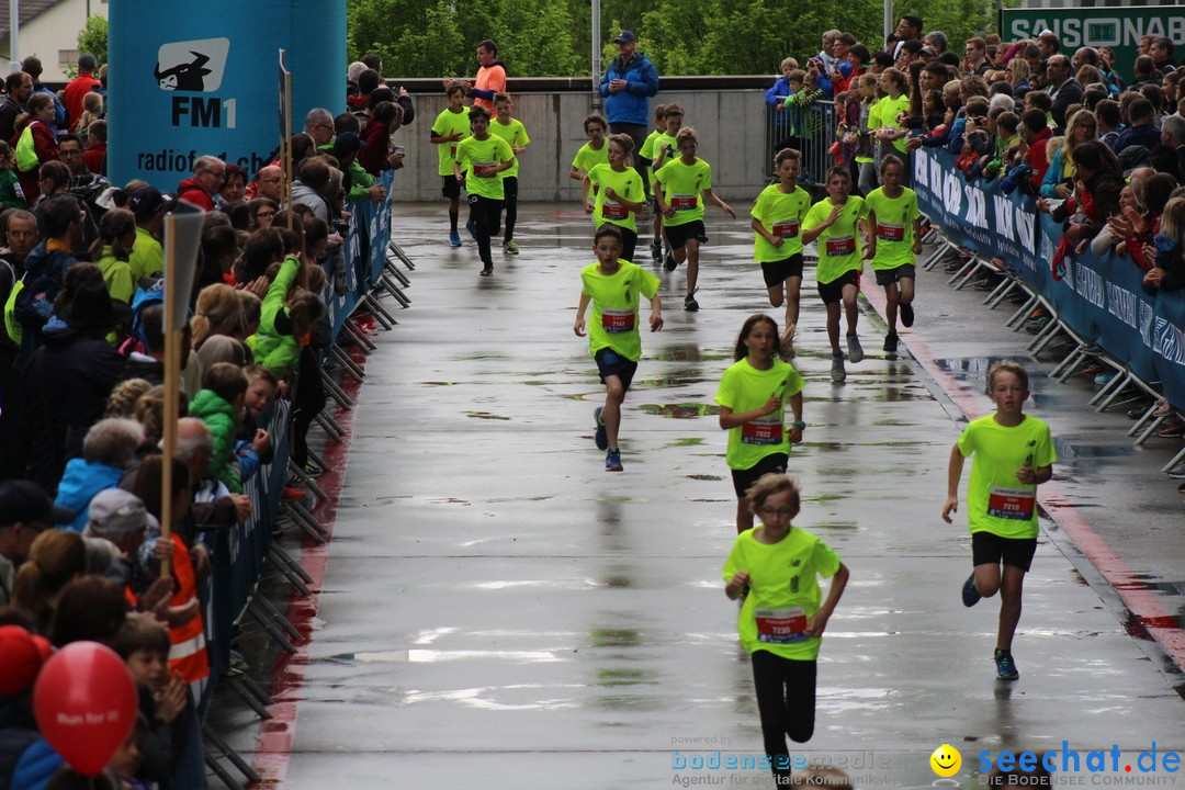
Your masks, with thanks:
M 379 179 L 403 165 L 391 134 L 415 117 L 380 69 L 370 56 L 351 66 L 344 111 L 308 110 L 256 173 L 203 155 L 178 181 L 124 185 L 105 173 L 105 70 L 92 56 L 60 95 L 37 58 L 5 81 L 0 788 L 75 786 L 32 696 L 51 650 L 81 641 L 126 661 L 140 701 L 88 786 L 205 786 L 210 546 L 251 516 L 246 484 L 273 460 L 261 425 L 277 398 L 292 402 L 289 457 L 303 470 L 283 495 L 303 497 L 300 482 L 322 471 L 305 435 L 326 403 L 350 206 L 385 200 Z M 179 201 L 206 213 L 165 458 L 164 227 Z

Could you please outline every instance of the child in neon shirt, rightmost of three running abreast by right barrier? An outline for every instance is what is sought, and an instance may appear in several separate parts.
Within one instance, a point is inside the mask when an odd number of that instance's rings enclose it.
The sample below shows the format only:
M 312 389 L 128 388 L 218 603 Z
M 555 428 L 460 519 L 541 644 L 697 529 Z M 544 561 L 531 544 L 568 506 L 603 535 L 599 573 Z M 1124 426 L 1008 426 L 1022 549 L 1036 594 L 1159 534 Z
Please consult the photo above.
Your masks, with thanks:
M 885 289 L 885 352 L 897 353 L 897 311 L 901 323 L 914 326 L 914 278 L 922 251 L 922 214 L 917 193 L 901 185 L 905 165 L 893 154 L 880 160 L 880 184 L 865 200 L 876 218 L 872 229 L 872 271 Z

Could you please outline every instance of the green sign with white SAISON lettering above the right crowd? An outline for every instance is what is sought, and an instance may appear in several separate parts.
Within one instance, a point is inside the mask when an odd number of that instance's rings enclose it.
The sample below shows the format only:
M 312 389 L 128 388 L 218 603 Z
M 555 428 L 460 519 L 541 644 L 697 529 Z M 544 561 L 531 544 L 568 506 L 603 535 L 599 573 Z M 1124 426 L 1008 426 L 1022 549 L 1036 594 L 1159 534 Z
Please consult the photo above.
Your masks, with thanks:
M 1000 12 L 1000 36 L 1005 41 L 1037 40 L 1052 31 L 1062 41 L 1061 52 L 1072 58 L 1082 46 L 1103 46 L 1115 52 L 1115 70 L 1132 82 L 1140 38 L 1164 36 L 1177 47 L 1179 59 L 1185 46 L 1185 7 L 1139 6 L 1097 8 L 1005 8 Z

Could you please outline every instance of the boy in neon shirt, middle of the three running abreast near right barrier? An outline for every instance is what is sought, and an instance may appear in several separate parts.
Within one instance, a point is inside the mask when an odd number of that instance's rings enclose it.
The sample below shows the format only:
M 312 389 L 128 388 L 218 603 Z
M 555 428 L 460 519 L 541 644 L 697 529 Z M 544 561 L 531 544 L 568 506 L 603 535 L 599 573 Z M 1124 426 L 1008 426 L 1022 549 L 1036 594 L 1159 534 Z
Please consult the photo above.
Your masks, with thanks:
M 802 243 L 818 240 L 819 298 L 827 307 L 827 338 L 831 340 L 831 380 L 843 384 L 847 379 L 844 353 L 839 349 L 840 303 L 847 315 L 847 358 L 854 365 L 864 359 L 856 322 L 860 317 L 856 296 L 860 293 L 860 271 L 864 269 L 861 240 L 867 238 L 867 204 L 863 198 L 848 195 L 852 176 L 846 167 L 827 171 L 827 197 L 811 206 L 802 220 Z

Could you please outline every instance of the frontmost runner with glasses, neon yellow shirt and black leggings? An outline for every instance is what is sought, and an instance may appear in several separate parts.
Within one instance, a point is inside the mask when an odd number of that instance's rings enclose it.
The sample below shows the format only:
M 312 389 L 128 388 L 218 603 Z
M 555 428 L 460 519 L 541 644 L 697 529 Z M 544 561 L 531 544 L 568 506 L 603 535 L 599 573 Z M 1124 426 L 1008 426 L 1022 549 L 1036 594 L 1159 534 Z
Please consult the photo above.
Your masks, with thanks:
M 850 573 L 831 546 L 790 524 L 801 508 L 793 477 L 766 475 L 748 499 L 762 524 L 732 544 L 724 595 L 743 599 L 737 630 L 752 663 L 764 750 L 775 784 L 789 786 L 786 737 L 805 744 L 814 734 L 819 648 Z M 819 577 L 831 579 L 826 599 Z

